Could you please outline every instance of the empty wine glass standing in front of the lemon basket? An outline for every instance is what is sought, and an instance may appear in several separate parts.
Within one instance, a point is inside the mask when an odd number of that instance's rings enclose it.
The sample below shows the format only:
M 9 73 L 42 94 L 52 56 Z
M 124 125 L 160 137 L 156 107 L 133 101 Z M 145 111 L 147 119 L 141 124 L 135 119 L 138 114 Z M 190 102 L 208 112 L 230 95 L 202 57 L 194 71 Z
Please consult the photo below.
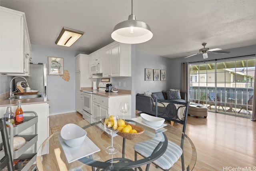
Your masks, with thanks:
M 108 154 L 114 154 L 118 152 L 118 147 L 113 146 L 113 134 L 117 133 L 117 121 L 118 121 L 118 115 L 108 115 L 104 121 L 104 129 L 106 133 L 111 135 L 111 146 L 106 148 L 106 152 Z

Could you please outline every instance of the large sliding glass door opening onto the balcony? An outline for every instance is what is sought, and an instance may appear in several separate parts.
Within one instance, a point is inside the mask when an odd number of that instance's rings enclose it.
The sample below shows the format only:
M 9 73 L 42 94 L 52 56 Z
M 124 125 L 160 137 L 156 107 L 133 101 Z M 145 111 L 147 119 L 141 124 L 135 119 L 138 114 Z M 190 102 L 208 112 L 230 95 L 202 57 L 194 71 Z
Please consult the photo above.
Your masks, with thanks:
M 251 117 L 255 57 L 190 64 L 190 101 L 208 110 Z

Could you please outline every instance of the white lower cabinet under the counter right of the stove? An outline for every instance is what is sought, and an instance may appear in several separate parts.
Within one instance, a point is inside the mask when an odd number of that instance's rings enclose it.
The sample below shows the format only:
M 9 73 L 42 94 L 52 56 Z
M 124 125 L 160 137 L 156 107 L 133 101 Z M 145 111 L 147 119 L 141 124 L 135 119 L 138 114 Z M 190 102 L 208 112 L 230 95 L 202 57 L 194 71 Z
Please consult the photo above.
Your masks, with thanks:
M 127 101 L 131 106 L 131 95 L 105 97 L 92 95 L 92 117 L 104 117 L 108 114 L 123 115 L 119 110 L 121 101 Z M 130 110 L 125 115 L 131 115 Z

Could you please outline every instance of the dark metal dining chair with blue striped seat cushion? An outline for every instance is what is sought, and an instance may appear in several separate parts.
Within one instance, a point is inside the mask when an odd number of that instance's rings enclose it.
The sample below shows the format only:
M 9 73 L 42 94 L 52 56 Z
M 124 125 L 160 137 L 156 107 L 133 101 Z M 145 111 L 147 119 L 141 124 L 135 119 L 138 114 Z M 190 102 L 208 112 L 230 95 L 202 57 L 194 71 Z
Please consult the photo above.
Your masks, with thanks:
M 156 98 L 156 104 L 158 104 L 158 101 L 164 102 L 164 103 L 180 104 L 180 105 L 183 105 L 183 107 L 186 107 L 186 109 L 184 111 L 184 119 L 179 119 L 179 117 L 177 117 L 178 119 L 166 118 L 168 120 L 182 124 L 183 125 L 182 132 L 184 134 L 182 134 L 180 146 L 177 145 L 176 143 L 168 140 L 168 147 L 167 147 L 166 151 L 164 152 L 164 154 L 161 157 L 159 157 L 158 159 L 156 159 L 155 161 L 153 161 L 152 163 L 154 163 L 157 168 L 159 167 L 164 171 L 168 171 L 174 165 L 174 163 L 176 163 L 178 161 L 178 159 L 181 157 L 182 170 L 184 170 L 184 156 L 183 156 L 182 149 L 183 149 L 184 135 L 185 135 L 185 131 L 186 131 L 189 101 L 177 102 L 177 101 L 172 101 L 172 100 L 162 100 L 162 99 L 160 100 L 160 99 Z M 178 113 L 177 111 L 179 108 L 180 107 L 178 107 L 176 109 L 176 114 Z M 157 107 L 156 107 L 156 116 L 157 116 Z M 156 149 L 158 144 L 161 143 L 161 141 L 162 141 L 161 137 L 154 137 L 152 139 L 142 141 L 140 143 L 135 144 L 134 145 L 135 160 L 137 160 L 137 154 L 140 154 L 141 156 L 143 156 L 145 158 L 150 156 L 152 153 L 155 152 L 154 150 Z M 148 171 L 149 167 L 150 167 L 150 163 L 146 166 L 146 171 Z

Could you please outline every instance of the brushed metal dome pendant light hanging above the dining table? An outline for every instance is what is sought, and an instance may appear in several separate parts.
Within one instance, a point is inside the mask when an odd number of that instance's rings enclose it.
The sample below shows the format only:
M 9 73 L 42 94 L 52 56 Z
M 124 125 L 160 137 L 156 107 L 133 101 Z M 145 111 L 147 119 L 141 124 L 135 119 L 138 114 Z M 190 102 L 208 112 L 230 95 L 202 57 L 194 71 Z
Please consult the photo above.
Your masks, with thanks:
M 131 14 L 128 20 L 116 24 L 111 37 L 116 42 L 139 44 L 150 40 L 153 34 L 148 24 L 136 20 L 135 15 Z

